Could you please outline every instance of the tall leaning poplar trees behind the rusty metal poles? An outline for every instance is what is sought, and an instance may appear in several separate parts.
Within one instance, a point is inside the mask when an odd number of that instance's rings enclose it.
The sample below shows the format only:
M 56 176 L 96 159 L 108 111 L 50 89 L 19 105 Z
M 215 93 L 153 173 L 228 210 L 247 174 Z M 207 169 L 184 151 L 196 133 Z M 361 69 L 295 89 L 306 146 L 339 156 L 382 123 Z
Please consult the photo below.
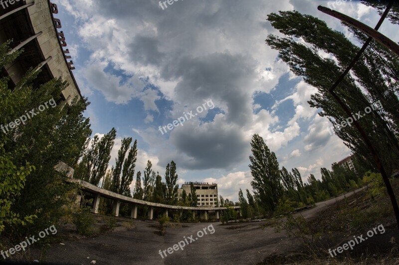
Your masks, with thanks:
M 329 89 L 360 48 L 342 32 L 332 30 L 326 22 L 311 15 L 280 11 L 279 14 L 269 14 L 267 20 L 285 36 L 269 35 L 266 43 L 279 51 L 279 58 L 295 75 L 317 88 L 317 93 L 308 102 L 310 106 L 322 109 L 319 115 L 327 117 L 333 125 L 346 121 L 348 115 Z M 348 29 L 361 43 L 368 38 L 354 27 L 349 26 Z M 298 42 L 298 39 L 303 42 Z M 319 56 L 321 52 L 326 56 Z M 384 157 L 381 162 L 389 175 L 399 168 L 399 99 L 395 96 L 399 92 L 398 65 L 398 56 L 392 56 L 389 49 L 372 41 L 352 67 L 352 75 L 347 75 L 335 90 L 354 113 L 363 112 L 379 102 L 379 107 L 373 107 L 371 113 L 364 115 L 358 122 L 377 153 Z M 353 153 L 368 161 L 366 164 L 375 164 L 370 149 L 355 126 L 340 126 L 334 131 Z

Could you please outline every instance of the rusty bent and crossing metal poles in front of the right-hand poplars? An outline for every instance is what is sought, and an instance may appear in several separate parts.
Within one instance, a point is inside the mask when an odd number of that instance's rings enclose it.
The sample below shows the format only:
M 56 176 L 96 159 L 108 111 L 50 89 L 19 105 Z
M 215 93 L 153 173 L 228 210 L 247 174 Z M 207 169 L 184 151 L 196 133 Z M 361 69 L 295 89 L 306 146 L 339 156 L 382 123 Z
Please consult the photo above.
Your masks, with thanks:
M 363 24 L 362 22 L 351 18 L 347 15 L 344 15 L 340 12 L 337 12 L 335 10 L 331 10 L 330 8 L 324 7 L 319 5 L 317 7 L 317 9 L 319 9 L 320 11 L 329 14 L 331 16 L 334 16 L 338 19 L 340 19 L 341 21 L 347 22 L 348 24 L 353 25 L 354 27 L 358 28 L 359 30 L 361 30 L 362 32 L 364 32 L 365 34 L 369 35 L 370 37 L 367 39 L 367 41 L 365 42 L 365 44 L 363 45 L 362 49 L 358 52 L 358 54 L 356 55 L 356 57 L 354 58 L 354 60 L 351 62 L 351 64 L 347 67 L 347 69 L 342 73 L 342 75 L 340 76 L 340 78 L 337 80 L 337 82 L 335 82 L 335 84 L 329 89 L 330 93 L 334 96 L 334 98 L 338 101 L 338 103 L 341 105 L 341 107 L 344 109 L 344 111 L 347 113 L 347 115 L 350 117 L 352 116 L 352 112 L 349 109 L 349 107 L 345 104 L 344 101 L 341 100 L 341 98 L 334 92 L 334 89 L 338 87 L 338 85 L 344 80 L 345 76 L 349 73 L 349 71 L 352 69 L 352 67 L 356 64 L 356 62 L 360 59 L 361 55 L 363 54 L 363 52 L 366 50 L 367 46 L 370 44 L 371 40 L 373 38 L 376 38 L 376 40 L 378 42 L 380 42 L 381 44 L 383 44 L 384 46 L 386 46 L 388 49 L 390 49 L 391 51 L 393 51 L 394 53 L 396 53 L 399 56 L 399 46 L 394 43 L 394 45 L 391 42 L 393 42 L 392 40 L 390 40 L 389 38 L 387 38 L 386 36 L 382 35 L 381 33 L 379 33 L 377 30 L 380 28 L 381 24 L 383 23 L 384 19 L 387 17 L 388 12 L 390 11 L 390 9 L 392 8 L 392 6 L 394 5 L 394 2 L 390 2 L 387 6 L 387 8 L 385 9 L 384 14 L 381 16 L 380 21 L 378 22 L 377 26 L 375 27 L 375 29 L 372 29 L 371 27 Z M 379 158 L 376 149 L 374 148 L 372 142 L 370 141 L 369 137 L 367 136 L 367 134 L 365 133 L 365 131 L 363 130 L 363 128 L 360 126 L 360 123 L 355 120 L 354 121 L 355 127 L 358 129 L 358 131 L 360 132 L 363 140 L 365 141 L 367 147 L 370 149 L 374 160 L 377 164 L 378 169 L 380 170 L 381 176 L 384 179 L 384 183 L 387 187 L 387 192 L 390 196 L 391 199 L 391 203 L 392 203 L 392 207 L 394 208 L 394 213 L 395 213 L 395 217 L 396 217 L 396 222 L 397 222 L 397 226 L 399 229 L 399 207 L 398 207 L 398 201 L 396 200 L 395 197 L 395 192 L 391 186 L 391 182 L 390 179 L 384 169 L 383 164 L 381 163 L 381 159 Z

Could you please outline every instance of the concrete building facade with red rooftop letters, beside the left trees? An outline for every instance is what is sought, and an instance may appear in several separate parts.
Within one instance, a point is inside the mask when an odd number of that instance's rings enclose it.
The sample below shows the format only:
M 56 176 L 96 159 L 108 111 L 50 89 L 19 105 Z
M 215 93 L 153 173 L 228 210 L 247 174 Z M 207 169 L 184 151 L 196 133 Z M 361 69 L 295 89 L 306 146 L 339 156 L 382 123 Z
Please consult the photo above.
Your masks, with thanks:
M 23 49 L 19 57 L 1 69 L 1 76 L 9 76 L 8 88 L 14 88 L 32 68 L 41 70 L 34 85 L 42 85 L 54 78 L 68 82 L 60 100 L 71 103 L 81 93 L 72 70 L 72 56 L 67 49 L 56 4 L 49 0 L 2 1 L 0 5 L 0 42 L 12 39 L 10 52 Z

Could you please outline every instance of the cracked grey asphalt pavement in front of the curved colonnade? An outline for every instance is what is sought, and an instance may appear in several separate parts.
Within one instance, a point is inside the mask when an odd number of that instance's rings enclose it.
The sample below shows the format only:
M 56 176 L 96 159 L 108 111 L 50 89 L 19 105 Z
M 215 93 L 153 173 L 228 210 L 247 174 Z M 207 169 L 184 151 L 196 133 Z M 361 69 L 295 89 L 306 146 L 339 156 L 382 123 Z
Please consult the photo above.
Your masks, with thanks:
M 353 195 L 348 192 L 346 196 Z M 315 207 L 301 212 L 309 219 L 323 207 L 343 199 L 337 198 L 319 202 Z M 119 221 L 128 220 L 118 218 Z M 262 229 L 263 222 L 246 222 L 231 226 L 222 226 L 220 222 L 183 224 L 183 227 L 168 227 L 166 235 L 160 236 L 156 226 L 157 221 L 136 220 L 136 227 L 130 231 L 111 232 L 95 238 L 64 240 L 62 244 L 53 245 L 46 253 L 46 261 L 57 264 L 89 265 L 92 260 L 96 265 L 120 264 L 173 264 L 173 265 L 205 265 L 205 264 L 257 264 L 273 253 L 285 253 L 290 248 L 292 239 L 284 232 L 275 233 L 274 229 Z M 167 253 L 162 258 L 159 250 L 167 250 L 212 225 L 214 233 L 209 232 L 191 244 Z M 234 229 L 232 229 L 234 228 Z M 208 229 L 209 231 L 211 229 Z M 190 242 L 190 240 L 189 240 Z M 33 257 L 38 255 L 33 253 Z M 35 257 L 38 259 L 38 257 Z

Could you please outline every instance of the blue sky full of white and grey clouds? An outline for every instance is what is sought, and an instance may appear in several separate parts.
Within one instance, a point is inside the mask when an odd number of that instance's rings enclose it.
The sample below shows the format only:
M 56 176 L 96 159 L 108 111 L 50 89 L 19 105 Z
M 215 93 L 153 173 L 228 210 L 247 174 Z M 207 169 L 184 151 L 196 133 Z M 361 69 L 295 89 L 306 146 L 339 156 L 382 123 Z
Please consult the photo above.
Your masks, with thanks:
M 174 160 L 180 184 L 215 182 L 220 195 L 236 201 L 239 188 L 252 190 L 248 157 L 255 133 L 280 167 L 298 168 L 304 181 L 350 154 L 327 131 L 330 122 L 309 107 L 315 88 L 290 73 L 264 41 L 278 34 L 266 21 L 278 10 L 317 16 L 349 36 L 317 10 L 328 1 L 179 0 L 163 8 L 158 0 L 53 2 L 76 81 L 91 102 L 86 116 L 93 134 L 117 130 L 111 165 L 121 139 L 133 137 L 137 170 L 151 160 L 164 176 Z M 336 9 L 372 27 L 379 20 L 355 0 Z M 388 20 L 380 31 L 399 40 Z M 185 114 L 183 126 L 162 129 Z

